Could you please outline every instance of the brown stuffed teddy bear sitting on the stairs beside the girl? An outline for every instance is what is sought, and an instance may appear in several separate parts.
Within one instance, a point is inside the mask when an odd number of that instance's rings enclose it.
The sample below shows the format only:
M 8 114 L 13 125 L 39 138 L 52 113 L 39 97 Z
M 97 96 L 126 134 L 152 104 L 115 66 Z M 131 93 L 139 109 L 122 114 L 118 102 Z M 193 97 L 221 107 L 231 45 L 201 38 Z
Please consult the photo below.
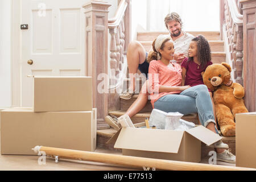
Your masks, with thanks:
M 202 73 L 204 84 L 213 91 L 218 125 L 225 137 L 236 136 L 236 114 L 248 112 L 243 102 L 245 90 L 230 80 L 230 72 L 230 65 L 221 63 L 209 65 Z

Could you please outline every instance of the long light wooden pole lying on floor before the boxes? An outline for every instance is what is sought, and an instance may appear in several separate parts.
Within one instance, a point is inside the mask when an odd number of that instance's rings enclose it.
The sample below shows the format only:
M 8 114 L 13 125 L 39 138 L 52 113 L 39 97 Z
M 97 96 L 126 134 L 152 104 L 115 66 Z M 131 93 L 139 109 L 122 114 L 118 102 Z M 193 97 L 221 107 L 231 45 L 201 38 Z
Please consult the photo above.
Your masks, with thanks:
M 179 162 L 175 160 L 163 160 L 152 158 L 140 158 L 134 156 L 103 154 L 97 152 L 69 150 L 64 148 L 53 148 L 36 146 L 33 148 L 36 153 L 39 151 L 46 152 L 46 155 L 58 156 L 59 159 L 75 159 L 85 160 L 90 162 L 100 162 L 108 164 L 117 164 L 121 166 L 129 167 L 151 167 L 163 170 L 173 171 L 256 171 L 254 168 L 232 167 L 232 166 L 220 166 L 213 164 L 201 164 L 201 163 L 189 163 Z

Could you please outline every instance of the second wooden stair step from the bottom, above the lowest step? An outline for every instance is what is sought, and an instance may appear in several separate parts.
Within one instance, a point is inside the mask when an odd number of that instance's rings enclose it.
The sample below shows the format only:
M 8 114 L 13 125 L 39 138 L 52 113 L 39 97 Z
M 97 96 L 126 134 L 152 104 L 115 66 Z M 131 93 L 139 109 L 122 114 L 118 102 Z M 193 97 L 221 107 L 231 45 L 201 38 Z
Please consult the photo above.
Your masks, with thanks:
M 111 111 L 109 112 L 109 114 L 115 115 L 116 117 L 120 117 L 121 115 L 125 114 L 125 112 L 126 111 L 118 110 L 118 111 Z M 144 122 L 145 118 L 150 118 L 150 114 L 151 114 L 151 111 L 135 114 L 133 117 L 131 117 L 131 121 L 133 121 L 133 123 Z M 181 118 L 184 119 L 185 121 L 193 122 L 196 125 L 200 123 L 197 118 L 197 114 L 188 114 L 188 115 L 184 115 Z

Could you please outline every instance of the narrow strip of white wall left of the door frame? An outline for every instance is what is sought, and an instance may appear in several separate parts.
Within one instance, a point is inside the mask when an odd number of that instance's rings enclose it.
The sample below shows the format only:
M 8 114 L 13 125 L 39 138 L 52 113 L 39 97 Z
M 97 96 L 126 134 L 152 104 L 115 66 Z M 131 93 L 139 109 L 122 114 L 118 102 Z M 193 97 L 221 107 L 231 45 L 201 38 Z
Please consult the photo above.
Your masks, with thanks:
M 0 1 L 0 107 L 11 106 L 11 1 Z

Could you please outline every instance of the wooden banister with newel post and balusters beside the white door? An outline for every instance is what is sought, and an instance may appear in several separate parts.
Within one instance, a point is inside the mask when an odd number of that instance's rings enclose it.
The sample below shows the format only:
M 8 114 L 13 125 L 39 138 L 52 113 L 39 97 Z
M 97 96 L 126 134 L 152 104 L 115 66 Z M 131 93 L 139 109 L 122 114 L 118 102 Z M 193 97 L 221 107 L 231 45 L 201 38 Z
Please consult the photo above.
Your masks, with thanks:
M 122 75 L 127 71 L 125 55 L 131 37 L 130 1 L 118 1 L 118 8 L 112 19 L 108 18 L 111 6 L 108 1 L 91 0 L 83 6 L 85 75 L 93 78 L 93 107 L 97 107 L 97 129 L 108 127 L 105 116 L 110 107 L 114 110 L 120 107 L 118 93 L 123 85 Z

